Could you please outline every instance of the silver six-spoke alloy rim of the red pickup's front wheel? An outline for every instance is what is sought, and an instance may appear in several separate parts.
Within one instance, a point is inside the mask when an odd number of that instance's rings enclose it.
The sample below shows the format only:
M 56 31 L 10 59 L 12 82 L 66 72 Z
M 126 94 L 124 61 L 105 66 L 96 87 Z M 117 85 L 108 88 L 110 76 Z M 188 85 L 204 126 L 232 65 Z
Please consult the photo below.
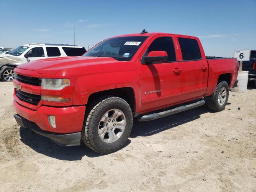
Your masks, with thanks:
M 98 134 L 106 143 L 117 141 L 124 133 L 126 118 L 119 109 L 108 110 L 100 119 Z

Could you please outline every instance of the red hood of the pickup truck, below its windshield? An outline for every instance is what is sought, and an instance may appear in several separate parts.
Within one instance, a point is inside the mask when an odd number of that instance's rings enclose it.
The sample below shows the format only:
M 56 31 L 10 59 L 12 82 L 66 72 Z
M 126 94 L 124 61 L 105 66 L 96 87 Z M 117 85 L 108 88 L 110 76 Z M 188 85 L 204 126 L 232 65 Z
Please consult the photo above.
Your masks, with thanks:
M 60 70 L 76 68 L 81 66 L 97 65 L 102 63 L 118 62 L 110 57 L 60 57 L 41 59 L 32 62 L 27 62 L 17 66 L 17 68 L 36 71 L 40 74 L 56 74 Z

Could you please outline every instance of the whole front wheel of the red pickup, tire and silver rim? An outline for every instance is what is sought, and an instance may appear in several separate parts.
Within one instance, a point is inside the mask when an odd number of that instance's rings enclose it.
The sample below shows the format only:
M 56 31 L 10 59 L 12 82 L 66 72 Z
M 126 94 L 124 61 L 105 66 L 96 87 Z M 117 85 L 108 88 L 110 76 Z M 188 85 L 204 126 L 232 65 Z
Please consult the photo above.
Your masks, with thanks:
M 88 106 L 82 141 L 95 152 L 107 154 L 120 149 L 132 130 L 129 104 L 119 97 L 106 96 Z

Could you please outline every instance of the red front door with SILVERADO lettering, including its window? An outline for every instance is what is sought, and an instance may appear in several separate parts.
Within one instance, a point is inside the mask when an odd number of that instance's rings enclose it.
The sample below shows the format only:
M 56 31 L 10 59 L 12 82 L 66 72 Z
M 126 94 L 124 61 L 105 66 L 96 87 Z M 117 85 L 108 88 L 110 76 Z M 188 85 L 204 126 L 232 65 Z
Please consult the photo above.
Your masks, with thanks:
M 174 46 L 175 43 L 175 46 Z M 166 51 L 167 62 L 143 64 L 139 61 L 141 72 L 142 107 L 141 111 L 162 108 L 180 101 L 181 62 L 177 61 L 176 42 L 172 35 L 157 35 L 152 38 L 142 52 L 147 56 L 151 51 Z M 140 57 L 139 57 L 140 58 Z

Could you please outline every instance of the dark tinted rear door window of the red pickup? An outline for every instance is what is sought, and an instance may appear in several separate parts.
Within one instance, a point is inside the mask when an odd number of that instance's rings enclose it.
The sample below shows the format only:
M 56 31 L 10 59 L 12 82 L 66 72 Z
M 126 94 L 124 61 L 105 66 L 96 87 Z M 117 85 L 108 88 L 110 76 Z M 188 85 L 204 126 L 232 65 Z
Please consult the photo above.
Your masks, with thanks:
M 197 60 L 202 58 L 198 42 L 195 39 L 178 37 L 182 58 L 186 60 Z

